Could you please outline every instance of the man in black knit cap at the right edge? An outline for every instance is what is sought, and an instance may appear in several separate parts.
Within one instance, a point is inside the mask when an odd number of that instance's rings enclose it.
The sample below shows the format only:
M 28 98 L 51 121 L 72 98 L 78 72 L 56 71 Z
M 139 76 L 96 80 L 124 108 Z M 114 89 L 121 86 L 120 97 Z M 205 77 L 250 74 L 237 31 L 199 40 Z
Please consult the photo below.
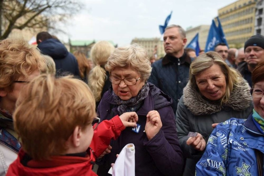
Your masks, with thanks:
M 251 73 L 257 64 L 264 60 L 264 37 L 253 35 L 245 42 L 244 48 L 246 59 L 238 64 L 237 69 L 252 87 Z

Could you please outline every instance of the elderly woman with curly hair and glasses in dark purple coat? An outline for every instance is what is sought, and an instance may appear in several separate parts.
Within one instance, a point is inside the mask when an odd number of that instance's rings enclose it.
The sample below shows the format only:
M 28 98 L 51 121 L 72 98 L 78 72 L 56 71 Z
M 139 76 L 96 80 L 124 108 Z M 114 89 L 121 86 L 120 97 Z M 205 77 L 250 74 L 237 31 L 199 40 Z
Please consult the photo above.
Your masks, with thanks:
M 108 154 L 98 162 L 97 174 L 107 175 L 116 155 L 126 144 L 133 143 L 135 175 L 181 175 L 183 155 L 172 99 L 147 82 L 151 64 L 145 49 L 137 44 L 119 47 L 108 58 L 105 69 L 110 73 L 112 87 L 101 99 L 98 116 L 103 121 L 134 111 L 139 121 L 136 128 L 126 128 L 119 139 L 111 141 L 105 152 Z

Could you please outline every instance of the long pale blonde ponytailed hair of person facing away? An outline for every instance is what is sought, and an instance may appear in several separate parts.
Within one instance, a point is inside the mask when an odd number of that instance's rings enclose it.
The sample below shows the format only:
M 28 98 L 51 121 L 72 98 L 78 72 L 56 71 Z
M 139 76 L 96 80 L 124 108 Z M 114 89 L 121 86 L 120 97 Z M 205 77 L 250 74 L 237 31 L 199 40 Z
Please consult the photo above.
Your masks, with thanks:
M 107 63 L 108 57 L 114 50 L 115 47 L 107 41 L 97 42 L 91 49 L 91 58 L 95 67 L 90 71 L 88 85 L 96 101 L 100 101 L 104 82 L 107 79 L 106 71 L 103 66 Z

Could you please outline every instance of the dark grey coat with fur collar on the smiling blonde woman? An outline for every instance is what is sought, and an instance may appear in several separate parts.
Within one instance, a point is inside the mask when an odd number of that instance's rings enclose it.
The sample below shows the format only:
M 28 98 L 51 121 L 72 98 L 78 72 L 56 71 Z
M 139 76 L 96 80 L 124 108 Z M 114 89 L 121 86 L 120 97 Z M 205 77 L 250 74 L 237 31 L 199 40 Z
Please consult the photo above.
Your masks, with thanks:
M 183 90 L 176 112 L 176 127 L 183 151 L 187 157 L 184 176 L 195 175 L 195 165 L 204 152 L 186 144 L 189 131 L 200 133 L 207 142 L 213 131 L 213 123 L 224 122 L 231 117 L 245 118 L 252 112 L 253 103 L 249 85 L 243 79 L 235 86 L 226 104 L 205 99 L 190 83 Z

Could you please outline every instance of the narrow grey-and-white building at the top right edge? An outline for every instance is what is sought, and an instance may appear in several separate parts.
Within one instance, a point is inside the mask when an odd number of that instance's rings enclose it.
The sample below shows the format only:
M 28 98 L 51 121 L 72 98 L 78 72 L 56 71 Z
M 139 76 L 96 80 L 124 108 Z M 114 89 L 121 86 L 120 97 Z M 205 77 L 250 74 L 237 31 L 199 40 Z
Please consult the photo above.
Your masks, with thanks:
M 264 1 L 260 0 L 256 3 L 256 13 L 255 13 L 255 31 L 254 34 L 261 34 L 264 36 Z

